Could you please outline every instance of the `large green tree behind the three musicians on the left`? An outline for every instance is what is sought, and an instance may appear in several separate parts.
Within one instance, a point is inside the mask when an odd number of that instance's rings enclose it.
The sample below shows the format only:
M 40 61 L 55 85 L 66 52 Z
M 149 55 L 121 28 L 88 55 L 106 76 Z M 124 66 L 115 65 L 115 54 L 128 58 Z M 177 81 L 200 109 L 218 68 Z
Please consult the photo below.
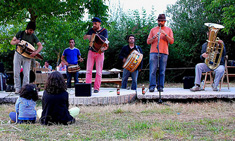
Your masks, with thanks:
M 35 34 L 44 46 L 41 53 L 54 67 L 58 64 L 62 51 L 68 47 L 70 38 L 75 38 L 76 45 L 82 47 L 81 52 L 85 53 L 83 48 L 88 43 L 83 41 L 82 36 L 91 25 L 83 21 L 85 11 L 88 11 L 90 18 L 99 16 L 105 21 L 108 6 L 104 2 L 105 0 L 1 0 L 0 29 L 3 32 L 0 33 L 0 53 L 8 54 L 14 50 L 15 46 L 10 45 L 10 40 L 18 31 L 25 30 L 28 19 L 36 22 Z

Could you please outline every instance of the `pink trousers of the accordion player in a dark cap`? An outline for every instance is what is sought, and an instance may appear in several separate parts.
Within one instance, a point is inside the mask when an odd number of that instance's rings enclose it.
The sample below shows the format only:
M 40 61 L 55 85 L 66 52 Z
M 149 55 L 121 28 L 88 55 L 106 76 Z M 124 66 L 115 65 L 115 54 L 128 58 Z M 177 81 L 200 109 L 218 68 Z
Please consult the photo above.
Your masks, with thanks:
M 102 79 L 104 53 L 99 54 L 91 50 L 88 51 L 87 64 L 86 64 L 86 83 L 90 84 L 92 83 L 92 70 L 94 63 L 96 64 L 94 90 L 99 90 Z

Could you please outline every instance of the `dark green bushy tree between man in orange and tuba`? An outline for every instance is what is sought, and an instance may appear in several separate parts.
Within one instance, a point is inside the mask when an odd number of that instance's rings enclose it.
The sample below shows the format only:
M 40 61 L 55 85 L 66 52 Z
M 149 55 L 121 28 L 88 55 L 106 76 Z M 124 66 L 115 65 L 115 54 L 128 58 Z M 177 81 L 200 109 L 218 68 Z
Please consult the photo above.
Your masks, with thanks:
M 189 67 L 199 62 L 201 45 L 206 40 L 204 5 L 200 0 L 179 0 L 167 7 L 175 42 L 170 48 L 168 66 Z M 172 63 L 171 63 L 172 62 Z

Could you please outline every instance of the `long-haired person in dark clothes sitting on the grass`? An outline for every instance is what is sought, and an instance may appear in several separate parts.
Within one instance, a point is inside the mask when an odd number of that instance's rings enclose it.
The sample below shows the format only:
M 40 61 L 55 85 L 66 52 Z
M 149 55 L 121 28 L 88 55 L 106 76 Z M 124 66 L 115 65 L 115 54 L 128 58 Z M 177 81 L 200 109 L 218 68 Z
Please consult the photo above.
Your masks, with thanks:
M 68 110 L 69 94 L 66 91 L 62 74 L 58 71 L 52 72 L 47 79 L 45 91 L 42 97 L 42 110 L 38 110 L 39 121 L 42 125 L 75 123 L 75 116 L 79 108 Z

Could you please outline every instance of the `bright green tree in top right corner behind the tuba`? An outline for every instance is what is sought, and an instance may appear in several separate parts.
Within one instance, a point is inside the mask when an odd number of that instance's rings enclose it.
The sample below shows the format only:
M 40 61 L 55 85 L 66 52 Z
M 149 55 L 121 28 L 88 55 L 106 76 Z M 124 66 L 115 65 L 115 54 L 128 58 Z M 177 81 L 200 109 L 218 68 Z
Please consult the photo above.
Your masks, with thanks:
M 224 41 L 229 59 L 235 59 L 235 1 L 234 0 L 203 0 L 208 19 L 222 24 L 225 28 L 219 37 Z M 222 33 L 222 34 L 221 34 Z

